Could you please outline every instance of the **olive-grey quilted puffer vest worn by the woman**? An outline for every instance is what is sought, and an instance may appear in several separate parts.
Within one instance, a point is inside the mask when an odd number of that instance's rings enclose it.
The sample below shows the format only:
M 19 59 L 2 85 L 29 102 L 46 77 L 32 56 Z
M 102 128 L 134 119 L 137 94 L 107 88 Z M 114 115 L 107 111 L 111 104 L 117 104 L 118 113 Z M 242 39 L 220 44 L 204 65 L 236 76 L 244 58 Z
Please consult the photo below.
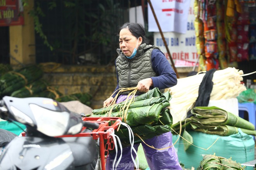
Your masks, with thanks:
M 158 76 L 152 68 L 151 52 L 159 49 L 157 46 L 141 44 L 138 46 L 137 53 L 132 59 L 126 58 L 121 49 L 116 49 L 119 56 L 116 58 L 116 71 L 118 73 L 119 88 L 136 87 L 140 80 Z M 128 95 L 131 91 L 122 92 Z M 161 90 L 164 92 L 164 89 Z M 137 92 L 140 95 L 142 92 Z

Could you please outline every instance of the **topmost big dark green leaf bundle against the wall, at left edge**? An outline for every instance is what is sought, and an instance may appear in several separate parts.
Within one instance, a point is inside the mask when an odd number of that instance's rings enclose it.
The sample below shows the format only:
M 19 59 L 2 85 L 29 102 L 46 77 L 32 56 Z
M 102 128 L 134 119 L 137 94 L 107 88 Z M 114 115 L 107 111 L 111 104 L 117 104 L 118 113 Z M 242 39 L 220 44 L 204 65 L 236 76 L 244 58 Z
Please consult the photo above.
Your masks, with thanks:
M 9 71 L 0 76 L 0 96 L 11 95 L 12 92 L 42 78 L 42 76 L 43 71 L 35 65 Z

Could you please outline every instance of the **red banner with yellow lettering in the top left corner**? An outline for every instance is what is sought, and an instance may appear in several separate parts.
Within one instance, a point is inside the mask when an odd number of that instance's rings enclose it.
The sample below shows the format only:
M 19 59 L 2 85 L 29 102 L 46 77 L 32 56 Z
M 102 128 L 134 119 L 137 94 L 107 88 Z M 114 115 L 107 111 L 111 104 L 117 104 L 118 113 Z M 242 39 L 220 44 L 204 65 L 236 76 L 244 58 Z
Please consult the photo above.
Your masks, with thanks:
M 0 26 L 23 25 L 21 0 L 0 0 Z

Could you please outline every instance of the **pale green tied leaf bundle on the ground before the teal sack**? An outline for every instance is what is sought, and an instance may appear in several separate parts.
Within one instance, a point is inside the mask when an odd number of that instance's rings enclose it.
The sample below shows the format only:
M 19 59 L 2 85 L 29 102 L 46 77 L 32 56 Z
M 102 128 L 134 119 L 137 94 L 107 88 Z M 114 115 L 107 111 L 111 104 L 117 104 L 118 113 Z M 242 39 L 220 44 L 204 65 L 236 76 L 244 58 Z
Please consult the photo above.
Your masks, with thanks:
M 215 155 L 203 155 L 200 162 L 201 170 L 244 170 L 240 163 L 233 161 L 231 158 L 223 158 Z

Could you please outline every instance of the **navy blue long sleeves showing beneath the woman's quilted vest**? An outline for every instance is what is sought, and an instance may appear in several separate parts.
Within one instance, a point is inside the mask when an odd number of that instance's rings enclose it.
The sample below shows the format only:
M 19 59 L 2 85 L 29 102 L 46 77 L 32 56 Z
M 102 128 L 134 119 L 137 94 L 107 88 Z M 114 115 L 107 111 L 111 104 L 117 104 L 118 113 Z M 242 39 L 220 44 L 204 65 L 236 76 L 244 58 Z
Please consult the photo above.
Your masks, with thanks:
M 177 76 L 176 73 L 173 71 L 170 63 L 164 56 L 163 52 L 158 49 L 153 49 L 151 53 L 151 61 L 152 67 L 156 72 L 157 76 L 150 77 L 153 81 L 153 87 L 158 87 L 159 89 L 173 87 L 177 84 Z M 117 77 L 117 86 L 114 90 L 114 94 L 112 97 L 115 97 L 118 93 L 118 73 L 116 73 Z

